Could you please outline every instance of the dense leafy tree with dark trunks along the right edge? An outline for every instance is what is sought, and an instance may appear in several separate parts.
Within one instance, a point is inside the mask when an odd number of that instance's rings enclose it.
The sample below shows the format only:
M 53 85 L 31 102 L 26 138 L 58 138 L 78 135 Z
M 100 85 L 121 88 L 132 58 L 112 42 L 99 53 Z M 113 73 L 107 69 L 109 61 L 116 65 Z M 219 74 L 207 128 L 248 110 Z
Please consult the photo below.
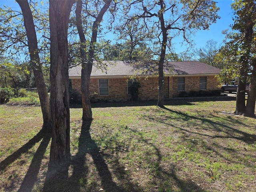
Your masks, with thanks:
M 236 94 L 236 114 L 254 117 L 256 99 L 256 2 L 236 0 L 231 4 L 234 10 L 234 24 L 228 34 L 226 45 L 234 49 L 238 68 L 238 89 Z M 251 82 L 247 104 L 245 103 L 246 82 Z

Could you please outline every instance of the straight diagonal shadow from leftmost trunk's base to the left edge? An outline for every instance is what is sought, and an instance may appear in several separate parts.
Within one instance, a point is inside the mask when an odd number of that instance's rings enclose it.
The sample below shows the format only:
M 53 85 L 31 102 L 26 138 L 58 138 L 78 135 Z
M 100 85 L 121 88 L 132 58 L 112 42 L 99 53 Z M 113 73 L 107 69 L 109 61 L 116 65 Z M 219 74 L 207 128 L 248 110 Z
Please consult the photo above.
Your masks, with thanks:
M 21 148 L 19 148 L 16 152 L 5 158 L 0 162 L 0 170 L 4 170 L 8 165 L 14 162 L 16 159 L 20 158 L 23 153 L 28 152 L 30 148 L 34 146 L 34 144 L 38 143 L 42 138 L 48 138 L 48 133 L 44 130 L 40 130 L 36 136 L 30 139 L 26 144 L 24 144 Z

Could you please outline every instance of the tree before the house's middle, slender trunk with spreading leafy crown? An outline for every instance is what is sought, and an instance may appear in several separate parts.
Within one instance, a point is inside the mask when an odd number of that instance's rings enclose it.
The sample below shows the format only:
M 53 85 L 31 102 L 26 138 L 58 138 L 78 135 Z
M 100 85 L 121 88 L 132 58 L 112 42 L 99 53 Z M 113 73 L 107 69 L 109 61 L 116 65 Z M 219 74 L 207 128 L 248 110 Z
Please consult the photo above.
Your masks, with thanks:
M 164 62 L 167 51 L 172 48 L 172 38 L 182 35 L 185 42 L 199 29 L 208 29 L 218 19 L 216 2 L 211 0 L 136 0 L 129 2 L 124 28 L 130 20 L 142 20 L 146 29 L 154 32 L 152 40 L 154 59 L 158 60 L 159 90 L 158 106 L 164 106 Z M 134 12 L 129 12 L 134 10 Z M 154 61 L 152 60 L 152 63 Z

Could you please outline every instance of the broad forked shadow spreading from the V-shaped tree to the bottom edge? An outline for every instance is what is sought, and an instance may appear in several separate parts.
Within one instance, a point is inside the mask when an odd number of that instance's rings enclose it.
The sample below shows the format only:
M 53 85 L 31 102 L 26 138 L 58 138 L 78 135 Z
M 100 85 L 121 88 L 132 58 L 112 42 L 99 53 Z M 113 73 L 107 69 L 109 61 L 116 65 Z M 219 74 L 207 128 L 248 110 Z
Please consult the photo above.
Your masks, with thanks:
M 91 138 L 89 132 L 90 125 L 91 122 L 83 122 L 82 124 L 80 137 L 78 139 L 78 152 L 75 156 L 72 156 L 72 162 L 70 164 L 71 169 L 69 170 L 71 171 L 59 173 L 48 172 L 44 182 L 44 192 L 90 192 L 99 191 L 100 188 L 103 188 L 106 192 L 137 191 L 134 190 L 136 187 L 130 182 L 128 182 L 128 185 L 132 190 L 126 190 L 113 181 L 112 174 L 108 169 L 104 156 L 100 153 L 100 149 Z M 88 165 L 86 165 L 89 161 L 86 159 L 87 154 L 92 157 L 100 181 L 97 181 L 97 177 L 94 175 L 90 178 Z

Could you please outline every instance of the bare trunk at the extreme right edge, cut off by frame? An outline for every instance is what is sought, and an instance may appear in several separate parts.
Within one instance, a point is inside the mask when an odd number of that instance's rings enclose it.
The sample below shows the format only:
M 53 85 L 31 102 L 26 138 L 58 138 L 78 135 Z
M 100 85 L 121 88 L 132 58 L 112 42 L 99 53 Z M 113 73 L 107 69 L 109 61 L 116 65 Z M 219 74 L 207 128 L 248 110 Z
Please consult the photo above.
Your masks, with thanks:
M 246 103 L 245 115 L 248 117 L 255 117 L 255 100 L 256 100 L 256 60 L 253 61 L 252 78 L 248 99 Z

